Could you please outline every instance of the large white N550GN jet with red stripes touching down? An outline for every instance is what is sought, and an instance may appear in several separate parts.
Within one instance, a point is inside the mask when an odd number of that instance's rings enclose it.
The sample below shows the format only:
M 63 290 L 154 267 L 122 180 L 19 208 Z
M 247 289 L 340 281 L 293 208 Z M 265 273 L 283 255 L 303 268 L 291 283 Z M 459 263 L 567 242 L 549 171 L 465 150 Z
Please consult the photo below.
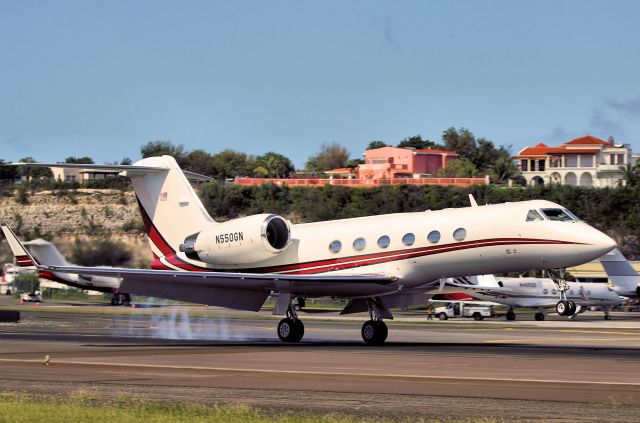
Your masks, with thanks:
M 393 318 L 389 308 L 424 303 L 426 291 L 441 278 L 563 268 L 615 247 L 607 235 L 549 201 L 299 225 L 274 214 L 215 222 L 170 156 L 132 166 L 40 166 L 124 171 L 155 259 L 154 270 L 38 268 L 116 276 L 125 292 L 241 310 L 259 310 L 274 291 L 279 294 L 275 312 L 287 316 L 278 324 L 278 336 L 289 342 L 304 334 L 292 306 L 296 297 L 349 299 L 342 313 L 368 310 L 371 319 L 362 326 L 362 337 L 383 343 L 383 319 Z M 22 248 L 15 241 L 13 247 Z M 19 263 L 31 265 L 26 251 L 21 254 Z

